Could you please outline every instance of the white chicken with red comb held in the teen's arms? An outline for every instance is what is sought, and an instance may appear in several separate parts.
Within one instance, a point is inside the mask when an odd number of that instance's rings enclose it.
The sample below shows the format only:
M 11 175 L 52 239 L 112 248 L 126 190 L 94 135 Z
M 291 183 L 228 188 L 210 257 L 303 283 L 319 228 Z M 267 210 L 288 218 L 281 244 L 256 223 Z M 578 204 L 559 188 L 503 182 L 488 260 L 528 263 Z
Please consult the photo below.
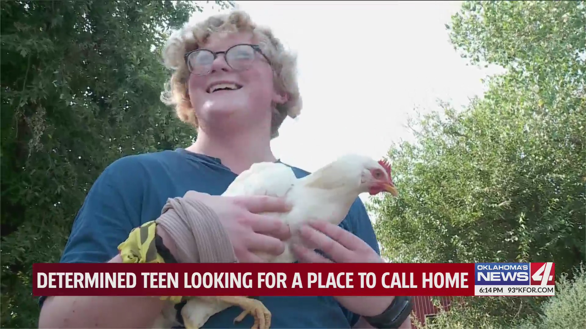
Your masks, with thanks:
M 292 205 L 291 211 L 272 215 L 289 225 L 292 239 L 295 239 L 295 232 L 304 222 L 318 218 L 338 225 L 360 193 L 375 195 L 381 192 L 397 196 L 389 163 L 351 154 L 300 179 L 282 163 L 255 163 L 236 177 L 222 195 L 285 198 Z M 259 256 L 266 262 L 295 262 L 297 259 L 289 249 L 291 241 L 288 242 L 285 252 L 279 256 Z M 200 328 L 211 316 L 230 306 L 240 306 L 244 310 L 234 321 L 241 321 L 251 314 L 254 317 L 253 329 L 270 327 L 271 313 L 259 300 L 247 296 L 193 296 L 181 311 L 185 328 Z

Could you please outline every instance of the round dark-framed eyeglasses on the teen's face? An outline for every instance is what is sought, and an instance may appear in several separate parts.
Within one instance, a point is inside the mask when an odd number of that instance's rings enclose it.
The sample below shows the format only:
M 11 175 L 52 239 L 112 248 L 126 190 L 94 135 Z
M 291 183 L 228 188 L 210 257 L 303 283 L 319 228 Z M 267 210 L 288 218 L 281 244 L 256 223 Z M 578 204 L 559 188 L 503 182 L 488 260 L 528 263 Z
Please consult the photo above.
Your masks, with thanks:
M 212 71 L 212 64 L 219 54 L 224 54 L 226 63 L 236 71 L 247 70 L 256 58 L 255 52 L 260 53 L 270 64 L 267 56 L 258 44 L 236 44 L 225 52 L 212 52 L 209 49 L 196 49 L 185 54 L 185 63 L 189 71 L 198 76 L 204 76 Z

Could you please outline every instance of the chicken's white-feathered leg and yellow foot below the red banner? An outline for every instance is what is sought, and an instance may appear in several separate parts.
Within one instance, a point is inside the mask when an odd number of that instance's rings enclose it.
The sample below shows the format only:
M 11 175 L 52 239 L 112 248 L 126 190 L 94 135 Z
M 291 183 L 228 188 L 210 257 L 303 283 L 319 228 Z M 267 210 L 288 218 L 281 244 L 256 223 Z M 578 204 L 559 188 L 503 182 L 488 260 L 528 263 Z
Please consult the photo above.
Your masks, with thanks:
M 246 296 L 197 296 L 188 300 L 183 307 L 182 316 L 186 329 L 199 329 L 207 320 L 222 310 L 235 305 L 243 311 L 234 319 L 242 321 L 248 314 L 254 317 L 251 329 L 269 329 L 271 326 L 271 312 L 260 300 Z

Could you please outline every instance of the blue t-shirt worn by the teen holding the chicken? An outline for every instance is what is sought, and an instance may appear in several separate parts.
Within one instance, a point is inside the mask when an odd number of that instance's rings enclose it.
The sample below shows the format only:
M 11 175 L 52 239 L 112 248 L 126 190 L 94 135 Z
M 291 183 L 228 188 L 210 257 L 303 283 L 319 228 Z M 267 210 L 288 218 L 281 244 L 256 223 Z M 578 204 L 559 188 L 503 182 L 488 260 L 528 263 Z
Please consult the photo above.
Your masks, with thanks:
M 309 174 L 291 168 L 297 177 Z M 132 228 L 161 215 L 168 198 L 182 197 L 189 190 L 220 195 L 235 178 L 236 174 L 220 159 L 185 149 L 122 157 L 108 166 L 91 187 L 73 223 L 61 262 L 107 262 L 117 255 L 118 245 L 128 238 Z M 380 253 L 359 198 L 340 226 Z M 359 319 L 331 296 L 257 298 L 272 313 L 271 328 L 350 328 Z M 182 305 L 176 308 L 180 310 Z M 203 328 L 250 328 L 250 316 L 233 322 L 240 313 L 239 307 L 230 307 L 214 314 Z M 183 323 L 179 311 L 178 320 Z

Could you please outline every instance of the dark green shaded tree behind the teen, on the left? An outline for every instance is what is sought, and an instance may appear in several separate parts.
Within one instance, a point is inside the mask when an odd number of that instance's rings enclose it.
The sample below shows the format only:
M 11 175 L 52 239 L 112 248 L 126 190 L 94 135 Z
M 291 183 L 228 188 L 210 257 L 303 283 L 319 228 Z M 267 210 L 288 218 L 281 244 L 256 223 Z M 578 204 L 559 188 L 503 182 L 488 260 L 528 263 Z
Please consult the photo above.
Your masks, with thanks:
M 217 1 L 221 6 L 231 3 Z M 159 100 L 169 31 L 192 1 L 3 1 L 1 326 L 36 327 L 32 264 L 58 262 L 105 166 L 185 146 L 195 131 Z

